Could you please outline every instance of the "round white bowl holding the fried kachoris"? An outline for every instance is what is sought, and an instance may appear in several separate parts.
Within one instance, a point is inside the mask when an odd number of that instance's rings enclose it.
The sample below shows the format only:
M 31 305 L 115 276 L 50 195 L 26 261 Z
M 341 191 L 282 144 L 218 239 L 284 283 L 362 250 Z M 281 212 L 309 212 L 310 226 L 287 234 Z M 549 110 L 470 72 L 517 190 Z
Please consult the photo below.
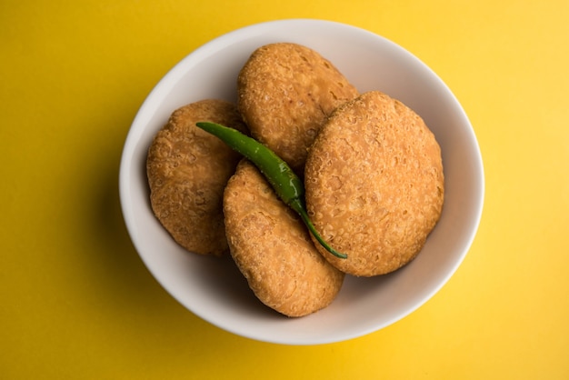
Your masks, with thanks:
M 149 205 L 145 159 L 153 136 L 175 108 L 205 98 L 236 100 L 236 77 L 255 48 L 294 42 L 328 58 L 360 92 L 380 90 L 423 116 L 441 145 L 443 215 L 409 265 L 372 278 L 346 276 L 332 305 L 302 318 L 279 315 L 256 300 L 231 259 L 186 252 L 157 222 Z M 454 274 L 478 228 L 484 171 L 474 131 L 452 92 L 402 47 L 379 35 L 333 22 L 282 20 L 222 35 L 186 56 L 155 86 L 135 117 L 120 167 L 125 224 L 150 272 L 195 315 L 259 341 L 316 345 L 366 335 L 400 320 Z

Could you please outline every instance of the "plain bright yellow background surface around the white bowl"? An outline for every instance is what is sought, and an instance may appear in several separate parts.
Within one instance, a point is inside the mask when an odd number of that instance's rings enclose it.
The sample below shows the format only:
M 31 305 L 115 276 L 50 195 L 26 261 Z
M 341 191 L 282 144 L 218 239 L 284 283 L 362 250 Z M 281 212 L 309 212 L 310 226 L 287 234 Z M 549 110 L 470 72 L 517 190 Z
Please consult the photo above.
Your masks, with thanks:
M 125 136 L 157 81 L 218 35 L 292 17 L 368 29 L 431 66 L 486 175 L 447 285 L 330 345 L 259 343 L 185 310 L 136 254 L 118 200 Z M 566 0 L 1 1 L 0 377 L 569 378 L 567 20 Z

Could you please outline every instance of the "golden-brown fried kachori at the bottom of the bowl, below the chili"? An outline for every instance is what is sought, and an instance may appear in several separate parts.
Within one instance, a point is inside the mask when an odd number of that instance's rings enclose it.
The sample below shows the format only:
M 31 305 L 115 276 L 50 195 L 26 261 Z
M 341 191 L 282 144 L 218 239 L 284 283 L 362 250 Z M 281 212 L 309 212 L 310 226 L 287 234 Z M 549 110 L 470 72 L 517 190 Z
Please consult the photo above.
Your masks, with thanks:
M 300 218 L 245 159 L 225 187 L 224 213 L 231 255 L 261 302 L 303 316 L 334 300 L 344 274 L 318 253 Z

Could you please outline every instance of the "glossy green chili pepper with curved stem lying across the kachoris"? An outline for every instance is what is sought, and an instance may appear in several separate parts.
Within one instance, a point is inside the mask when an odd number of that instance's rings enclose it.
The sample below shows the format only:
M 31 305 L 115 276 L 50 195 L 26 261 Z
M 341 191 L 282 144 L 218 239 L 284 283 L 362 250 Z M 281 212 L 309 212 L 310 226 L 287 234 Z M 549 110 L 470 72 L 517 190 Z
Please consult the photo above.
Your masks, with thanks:
M 197 123 L 198 127 L 220 138 L 241 155 L 245 155 L 265 175 L 267 181 L 275 189 L 283 202 L 291 207 L 304 221 L 312 235 L 332 255 L 347 258 L 347 255 L 334 250 L 318 234 L 306 212 L 304 205 L 304 184 L 293 169 L 271 149 L 259 143 L 254 138 L 242 134 L 236 129 L 215 123 Z

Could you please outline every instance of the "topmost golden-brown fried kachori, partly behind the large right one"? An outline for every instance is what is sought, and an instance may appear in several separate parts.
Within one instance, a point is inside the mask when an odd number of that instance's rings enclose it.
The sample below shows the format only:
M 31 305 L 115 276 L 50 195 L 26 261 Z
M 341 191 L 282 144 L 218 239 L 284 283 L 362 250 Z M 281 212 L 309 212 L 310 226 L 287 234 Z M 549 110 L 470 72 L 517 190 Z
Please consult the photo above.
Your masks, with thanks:
M 237 80 L 238 106 L 261 143 L 302 175 L 306 151 L 338 105 L 357 90 L 329 61 L 303 45 L 264 45 Z

